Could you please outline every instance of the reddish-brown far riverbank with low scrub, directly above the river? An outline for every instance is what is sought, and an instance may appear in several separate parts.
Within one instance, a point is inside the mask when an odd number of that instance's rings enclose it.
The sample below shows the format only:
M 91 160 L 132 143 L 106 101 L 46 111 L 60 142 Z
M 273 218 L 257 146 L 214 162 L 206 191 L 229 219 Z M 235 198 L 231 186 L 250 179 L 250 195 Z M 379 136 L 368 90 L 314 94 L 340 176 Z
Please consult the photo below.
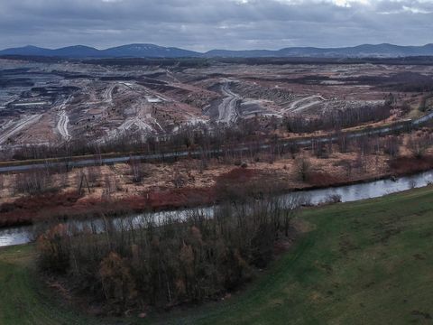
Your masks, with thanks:
M 187 162 L 189 163 L 189 162 Z M 352 177 L 342 176 L 342 171 L 333 167 L 329 170 L 328 160 L 313 161 L 317 168 L 309 171 L 306 181 L 296 179 L 294 161 L 280 160 L 278 162 L 254 163 L 251 167 L 218 167 L 198 175 L 189 174 L 195 179 L 204 179 L 180 188 L 159 186 L 137 190 L 133 184 L 122 190 L 122 195 L 104 196 L 99 190 L 91 193 L 78 194 L 77 190 L 50 191 L 47 193 L 18 197 L 0 205 L 0 228 L 32 225 L 47 219 L 70 218 L 98 218 L 101 215 L 122 216 L 143 211 L 161 211 L 170 209 L 185 209 L 215 204 L 234 196 L 247 195 L 247 190 L 271 190 L 276 195 L 290 191 L 309 191 L 327 188 L 338 188 L 372 181 L 392 179 L 417 172 L 428 171 L 433 168 L 433 156 L 426 155 L 422 159 L 413 157 L 399 157 L 390 161 L 389 169 L 378 170 L 371 168 L 372 173 L 352 172 Z M 290 165 L 291 164 L 291 165 Z M 335 163 L 334 163 L 335 164 Z M 177 165 L 180 167 L 180 163 Z M 127 168 L 127 167 L 124 167 Z M 157 167 L 156 167 L 157 168 Z M 110 169 L 100 172 L 101 179 Z M 122 174 L 122 170 L 115 173 Z M 161 172 L 153 172 L 155 175 Z M 206 181 L 207 180 L 207 181 Z M 157 183 L 155 178 L 151 182 Z M 208 186 L 206 186 L 208 184 Z M 127 185 L 124 185 L 124 187 Z M 169 185 L 170 186 L 170 185 Z M 102 190 L 102 189 L 101 189 Z M 328 199 L 331 195 L 329 195 Z M 324 200 L 320 198 L 320 200 Z M 334 198 L 333 200 L 336 200 Z

